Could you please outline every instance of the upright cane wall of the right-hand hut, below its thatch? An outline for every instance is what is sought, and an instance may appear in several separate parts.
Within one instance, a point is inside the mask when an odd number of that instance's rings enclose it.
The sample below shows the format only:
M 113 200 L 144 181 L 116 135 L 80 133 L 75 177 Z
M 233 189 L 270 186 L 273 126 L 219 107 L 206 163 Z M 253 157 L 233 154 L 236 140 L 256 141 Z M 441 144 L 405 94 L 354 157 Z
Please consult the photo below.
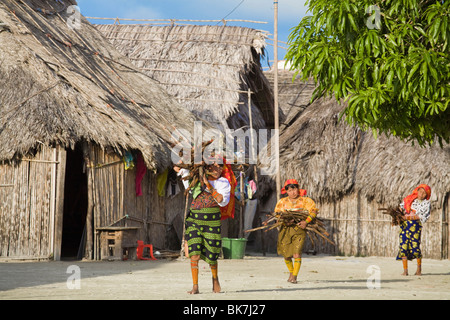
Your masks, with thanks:
M 421 250 L 424 258 L 450 259 L 449 256 L 449 211 L 450 197 L 444 203 L 432 202 L 430 219 L 423 224 Z M 275 207 L 273 199 L 262 208 L 271 211 Z M 316 203 L 319 216 L 323 219 L 327 231 L 336 246 L 318 241 L 315 246 L 306 241 L 304 252 L 315 250 L 317 253 L 346 256 L 383 256 L 396 257 L 399 246 L 398 226 L 391 226 L 390 216 L 382 214 L 383 207 L 365 197 L 352 194 L 334 203 Z M 267 252 L 276 252 L 276 231 L 263 235 Z M 261 235 L 255 235 L 260 242 Z M 261 245 L 256 245 L 257 250 Z

